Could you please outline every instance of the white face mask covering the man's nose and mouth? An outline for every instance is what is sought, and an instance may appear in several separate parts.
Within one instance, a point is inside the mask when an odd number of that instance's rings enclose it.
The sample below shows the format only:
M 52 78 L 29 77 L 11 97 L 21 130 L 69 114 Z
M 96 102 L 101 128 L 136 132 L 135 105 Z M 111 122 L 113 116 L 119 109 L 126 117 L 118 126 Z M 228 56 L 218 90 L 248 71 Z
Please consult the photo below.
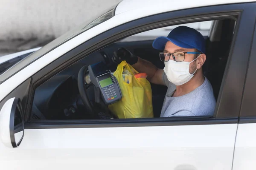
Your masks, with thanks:
M 195 61 L 198 57 L 196 57 L 193 61 Z M 184 61 L 176 62 L 170 59 L 168 62 L 164 63 L 165 67 L 163 68 L 163 71 L 165 72 L 167 79 L 170 82 L 172 82 L 175 85 L 183 85 L 189 80 L 191 80 L 192 77 L 194 76 L 194 73 L 197 71 L 196 69 L 193 74 L 189 73 L 190 63 L 191 62 Z

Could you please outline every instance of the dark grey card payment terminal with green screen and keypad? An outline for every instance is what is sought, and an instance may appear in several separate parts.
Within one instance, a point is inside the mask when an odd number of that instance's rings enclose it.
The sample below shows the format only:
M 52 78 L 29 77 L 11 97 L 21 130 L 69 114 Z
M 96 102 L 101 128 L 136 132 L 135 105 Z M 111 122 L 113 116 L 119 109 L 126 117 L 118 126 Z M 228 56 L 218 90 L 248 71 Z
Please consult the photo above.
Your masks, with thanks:
M 102 99 L 106 105 L 111 105 L 122 98 L 116 77 L 111 74 L 103 62 L 89 65 L 88 71 L 93 85 L 101 89 Z

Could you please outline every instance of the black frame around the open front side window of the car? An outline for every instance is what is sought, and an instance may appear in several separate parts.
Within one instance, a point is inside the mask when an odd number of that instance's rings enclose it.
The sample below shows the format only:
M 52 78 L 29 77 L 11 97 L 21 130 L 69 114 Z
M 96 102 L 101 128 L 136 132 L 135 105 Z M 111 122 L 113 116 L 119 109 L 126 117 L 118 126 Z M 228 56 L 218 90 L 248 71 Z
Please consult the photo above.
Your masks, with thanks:
M 253 3 L 254 6 L 256 3 Z M 253 7 L 254 7 L 253 6 Z M 246 10 L 245 10 L 246 9 Z M 155 125 L 206 125 L 206 124 L 224 124 L 224 123 L 237 123 L 238 122 L 238 115 L 240 111 L 240 104 L 239 102 L 239 96 L 241 96 L 241 92 L 237 94 L 237 103 L 239 104 L 237 107 L 239 107 L 239 111 L 235 112 L 235 114 L 227 115 L 225 114 L 227 110 L 227 107 L 225 107 L 225 104 L 228 104 L 231 106 L 233 103 L 229 103 L 227 100 L 227 96 L 224 96 L 225 94 L 230 93 L 228 91 L 228 86 L 230 85 L 229 82 L 227 82 L 228 79 L 232 79 L 232 73 L 230 73 L 230 70 L 233 70 L 235 65 L 238 64 L 240 61 L 236 60 L 238 58 L 238 55 L 241 54 L 244 51 L 239 51 L 239 49 L 234 49 L 235 44 L 236 46 L 243 46 L 246 48 L 245 45 L 247 45 L 246 42 L 238 40 L 236 41 L 237 37 L 241 39 L 241 34 L 238 34 L 241 32 L 241 29 L 247 29 L 246 34 L 250 34 L 250 26 L 243 26 L 246 17 L 251 16 L 250 11 L 252 11 L 252 5 L 249 3 L 244 4 L 232 4 L 232 5 L 221 5 L 221 6 L 208 6 L 208 7 L 200 7 L 200 8 L 192 8 L 192 9 L 185 9 L 185 10 L 179 10 L 179 11 L 172 11 L 167 12 L 163 14 L 157 14 L 149 17 L 145 17 L 142 19 L 134 20 L 129 23 L 125 23 L 121 26 L 118 26 L 116 28 L 112 28 L 109 31 L 106 31 L 102 34 L 99 34 L 98 36 L 92 38 L 91 40 L 79 45 L 77 48 L 74 48 L 72 51 L 68 52 L 67 54 L 64 54 L 59 59 L 55 60 L 51 64 L 47 65 L 45 68 L 43 68 L 38 73 L 34 74 L 32 76 L 32 83 L 31 88 L 29 89 L 28 93 L 28 102 L 25 108 L 25 120 L 26 120 L 26 128 L 69 128 L 69 127 L 120 127 L 120 126 L 155 126 Z M 241 12 L 243 11 L 243 15 L 241 15 Z M 245 12 L 247 11 L 247 12 Z M 172 18 L 170 18 L 170 14 L 172 15 Z M 217 101 L 218 107 L 215 108 L 215 118 L 209 118 L 209 117 L 180 117 L 180 118 L 151 118 L 151 119 L 130 119 L 130 120 L 46 120 L 46 121 L 34 121 L 29 122 L 29 114 L 31 113 L 31 106 L 33 102 L 33 96 L 35 92 L 35 88 L 41 85 L 43 82 L 45 82 L 47 79 L 53 77 L 55 74 L 59 73 L 60 71 L 67 68 L 68 65 L 80 60 L 84 56 L 87 56 L 94 51 L 99 50 L 100 48 L 107 46 L 108 44 L 111 44 L 117 40 L 120 40 L 124 37 L 128 37 L 132 34 L 137 34 L 142 31 L 147 31 L 154 28 L 160 28 L 163 26 L 171 26 L 171 25 L 177 25 L 182 23 L 188 23 L 195 22 L 195 21 L 204 21 L 204 20 L 213 20 L 213 19 L 223 19 L 223 18 L 230 18 L 231 16 L 237 15 L 238 16 L 238 22 L 237 22 L 237 28 L 233 37 L 233 42 L 231 45 L 230 50 L 230 56 L 226 65 L 226 69 L 224 72 L 223 82 L 221 84 L 221 89 L 219 92 L 219 97 Z M 181 18 L 183 18 L 181 20 Z M 190 18 L 190 19 L 189 19 Z M 200 19 L 198 19 L 200 18 Z M 244 19 L 243 19 L 244 18 Z M 166 20 L 165 20 L 166 19 Z M 240 22 L 242 21 L 242 24 Z M 251 22 L 250 20 L 247 21 L 247 23 Z M 157 23 L 157 24 L 156 24 Z M 242 28 L 240 28 L 242 27 Z M 239 31 L 240 30 L 240 31 Z M 110 36 L 111 35 L 111 36 Z M 236 43 L 235 43 L 236 42 Z M 84 50 L 86 49 L 86 50 Z M 243 53 L 244 54 L 244 53 Z M 234 57 L 235 55 L 236 57 Z M 249 55 L 249 54 L 248 54 Z M 244 55 L 244 59 L 246 60 L 247 55 Z M 234 59 L 235 58 L 235 59 Z M 227 69 L 229 68 L 229 69 Z M 241 70 L 241 77 L 240 79 L 245 79 L 245 71 L 247 69 L 247 65 L 245 65 Z M 244 73 L 244 74 L 243 74 Z M 243 82 L 243 81 L 242 81 Z M 243 86 L 244 84 L 241 83 L 240 86 Z M 236 107 L 234 107 L 236 108 Z M 234 110 L 234 109 L 233 109 Z

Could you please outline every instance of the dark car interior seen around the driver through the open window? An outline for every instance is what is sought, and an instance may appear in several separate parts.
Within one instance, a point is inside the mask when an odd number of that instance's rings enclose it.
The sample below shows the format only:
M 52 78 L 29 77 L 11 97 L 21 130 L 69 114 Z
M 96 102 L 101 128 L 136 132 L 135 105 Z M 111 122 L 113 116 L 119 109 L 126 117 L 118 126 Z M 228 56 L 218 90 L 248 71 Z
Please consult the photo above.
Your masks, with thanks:
M 203 65 L 204 76 L 212 84 L 215 99 L 221 87 L 222 78 L 227 65 L 230 53 L 230 46 L 234 34 L 236 21 L 234 19 L 214 20 L 209 30 L 209 35 L 205 36 L 207 60 Z M 167 36 L 167 35 L 161 35 Z M 70 65 L 65 70 L 50 78 L 38 88 L 35 89 L 35 95 L 32 105 L 31 120 L 49 119 L 49 120 L 70 120 L 70 119 L 109 119 L 108 116 L 92 116 L 88 107 L 84 105 L 78 88 L 79 71 L 84 65 L 92 65 L 97 62 L 104 62 L 111 72 L 116 70 L 117 65 L 111 58 L 113 52 L 120 47 L 124 47 L 133 54 L 146 59 L 156 65 L 158 68 L 164 67 L 164 62 L 159 59 L 159 54 L 152 47 L 154 40 L 137 40 L 137 41 L 117 41 L 99 51 L 90 54 Z M 84 79 L 86 79 L 85 74 Z M 86 94 L 94 108 L 96 100 L 93 85 L 86 84 Z M 166 95 L 167 87 L 163 85 L 151 84 L 152 105 L 154 117 L 160 117 L 163 100 Z

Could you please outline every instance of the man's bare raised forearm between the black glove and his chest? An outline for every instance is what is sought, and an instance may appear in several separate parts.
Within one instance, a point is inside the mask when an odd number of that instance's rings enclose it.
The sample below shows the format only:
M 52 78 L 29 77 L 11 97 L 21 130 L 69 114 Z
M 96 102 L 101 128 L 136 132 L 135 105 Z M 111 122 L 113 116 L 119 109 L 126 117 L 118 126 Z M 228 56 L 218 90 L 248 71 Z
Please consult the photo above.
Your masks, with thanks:
M 138 57 L 138 61 L 132 65 L 140 73 L 146 73 L 148 75 L 147 79 L 149 82 L 157 85 L 166 85 L 163 82 L 163 70 L 157 68 L 151 62 Z

